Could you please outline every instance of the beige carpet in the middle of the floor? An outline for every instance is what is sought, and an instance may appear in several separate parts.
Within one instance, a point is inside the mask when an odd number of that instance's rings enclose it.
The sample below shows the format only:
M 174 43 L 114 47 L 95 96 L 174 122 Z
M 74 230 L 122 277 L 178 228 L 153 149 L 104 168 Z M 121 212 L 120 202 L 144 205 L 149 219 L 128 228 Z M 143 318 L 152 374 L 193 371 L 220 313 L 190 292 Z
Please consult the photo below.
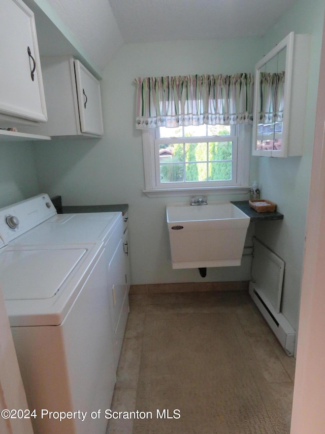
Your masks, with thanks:
M 135 434 L 288 433 L 235 313 L 147 315 Z M 172 385 L 172 386 L 171 386 Z M 164 409 L 179 419 L 159 419 Z M 176 413 L 177 416 L 177 413 Z

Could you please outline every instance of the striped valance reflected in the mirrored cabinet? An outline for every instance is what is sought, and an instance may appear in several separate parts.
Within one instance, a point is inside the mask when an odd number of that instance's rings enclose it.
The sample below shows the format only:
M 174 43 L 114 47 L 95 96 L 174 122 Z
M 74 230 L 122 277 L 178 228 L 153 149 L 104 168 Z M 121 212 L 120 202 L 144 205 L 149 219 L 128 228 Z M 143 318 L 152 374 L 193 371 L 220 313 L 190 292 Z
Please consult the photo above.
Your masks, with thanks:
M 258 123 L 282 122 L 285 72 L 261 72 L 260 77 Z

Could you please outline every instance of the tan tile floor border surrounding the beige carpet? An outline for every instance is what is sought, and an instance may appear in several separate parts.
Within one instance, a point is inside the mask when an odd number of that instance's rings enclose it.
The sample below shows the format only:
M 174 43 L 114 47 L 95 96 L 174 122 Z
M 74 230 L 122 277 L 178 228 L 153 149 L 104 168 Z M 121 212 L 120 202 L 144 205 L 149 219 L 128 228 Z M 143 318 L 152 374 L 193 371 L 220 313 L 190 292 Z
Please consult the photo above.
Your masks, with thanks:
M 126 325 L 111 409 L 135 411 L 145 320 L 167 319 L 171 314 L 236 314 L 250 351 L 272 393 L 280 402 L 289 432 L 293 399 L 295 359 L 284 353 L 246 291 L 179 292 L 129 295 Z M 247 356 L 246 354 L 246 356 Z M 244 357 L 244 356 L 243 356 Z M 109 420 L 107 434 L 132 434 L 133 419 Z M 204 433 L 204 429 L 202 430 Z M 154 433 L 153 433 L 154 434 Z M 233 433 L 230 433 L 233 434 Z M 257 434 L 257 433 L 256 433 Z M 263 434 L 259 432 L 258 434 Z

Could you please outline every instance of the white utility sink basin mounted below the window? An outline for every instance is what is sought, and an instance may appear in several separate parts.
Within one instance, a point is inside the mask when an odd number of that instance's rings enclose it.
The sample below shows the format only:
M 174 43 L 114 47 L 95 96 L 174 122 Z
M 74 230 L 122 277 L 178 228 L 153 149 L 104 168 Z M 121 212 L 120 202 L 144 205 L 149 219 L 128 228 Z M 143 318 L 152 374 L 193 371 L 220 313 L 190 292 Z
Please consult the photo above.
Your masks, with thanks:
M 231 202 L 166 207 L 173 268 L 239 266 L 250 218 Z

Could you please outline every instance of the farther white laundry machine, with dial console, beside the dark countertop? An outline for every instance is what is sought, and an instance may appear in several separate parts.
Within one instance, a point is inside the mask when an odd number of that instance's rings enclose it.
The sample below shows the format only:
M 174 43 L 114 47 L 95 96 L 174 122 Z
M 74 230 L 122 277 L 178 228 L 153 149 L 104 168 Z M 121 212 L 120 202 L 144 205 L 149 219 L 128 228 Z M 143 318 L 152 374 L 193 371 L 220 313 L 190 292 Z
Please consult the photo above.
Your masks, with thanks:
M 50 208 L 45 204 L 50 204 Z M 26 214 L 38 216 L 42 224 L 29 228 L 15 237 L 16 228 L 8 227 L 6 215 L 12 214 L 19 221 Z M 19 224 L 21 226 L 21 223 Z M 19 229 L 21 230 L 21 229 Z M 27 199 L 19 208 L 16 206 L 0 210 L 0 234 L 11 245 L 49 245 L 81 242 L 104 242 L 109 292 L 111 293 L 111 314 L 114 324 L 114 363 L 117 369 L 125 326 L 129 311 L 125 258 L 123 251 L 123 218 L 120 212 L 57 214 L 47 194 Z

